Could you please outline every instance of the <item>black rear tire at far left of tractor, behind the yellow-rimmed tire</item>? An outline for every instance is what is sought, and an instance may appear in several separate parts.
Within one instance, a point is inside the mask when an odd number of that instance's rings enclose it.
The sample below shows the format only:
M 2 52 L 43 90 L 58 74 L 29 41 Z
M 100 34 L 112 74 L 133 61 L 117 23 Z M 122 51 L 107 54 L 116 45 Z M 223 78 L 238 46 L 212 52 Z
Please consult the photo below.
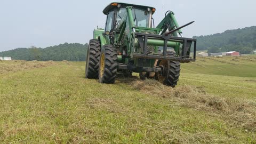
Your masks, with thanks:
M 100 50 L 100 41 L 98 39 L 91 39 L 87 51 L 85 78 L 98 78 Z

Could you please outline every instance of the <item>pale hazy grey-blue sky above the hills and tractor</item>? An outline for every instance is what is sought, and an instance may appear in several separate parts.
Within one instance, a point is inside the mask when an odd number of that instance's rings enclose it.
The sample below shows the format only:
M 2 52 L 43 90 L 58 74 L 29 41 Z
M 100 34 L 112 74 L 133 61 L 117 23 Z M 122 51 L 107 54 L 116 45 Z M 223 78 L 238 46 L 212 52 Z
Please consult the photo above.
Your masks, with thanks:
M 105 27 L 102 10 L 114 1 L 0 0 L 0 52 L 18 47 L 47 47 L 60 43 L 85 44 L 94 28 Z M 255 0 L 126 0 L 156 8 L 155 25 L 166 11 L 175 14 L 184 37 L 222 33 L 256 25 Z

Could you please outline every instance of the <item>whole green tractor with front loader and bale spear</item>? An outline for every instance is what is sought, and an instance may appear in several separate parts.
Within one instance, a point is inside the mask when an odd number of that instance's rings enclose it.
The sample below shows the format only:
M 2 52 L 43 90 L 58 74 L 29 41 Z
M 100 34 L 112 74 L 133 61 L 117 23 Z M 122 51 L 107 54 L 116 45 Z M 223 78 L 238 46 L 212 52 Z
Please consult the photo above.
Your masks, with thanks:
M 180 76 L 180 62 L 195 61 L 196 39 L 182 36 L 172 11 L 155 27 L 154 7 L 111 3 L 105 29 L 97 28 L 90 40 L 86 78 L 114 83 L 117 73 L 139 73 L 141 79 L 154 78 L 174 87 Z M 179 36 L 178 36 L 179 35 Z

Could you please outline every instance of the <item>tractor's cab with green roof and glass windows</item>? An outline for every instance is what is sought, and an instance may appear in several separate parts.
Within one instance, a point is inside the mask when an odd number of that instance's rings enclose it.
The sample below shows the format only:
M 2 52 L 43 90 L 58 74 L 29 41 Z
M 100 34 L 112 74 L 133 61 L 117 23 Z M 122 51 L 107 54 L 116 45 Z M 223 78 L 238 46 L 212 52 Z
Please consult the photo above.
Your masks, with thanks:
M 151 27 L 152 14 L 155 12 L 154 7 L 126 3 L 111 3 L 103 10 L 103 13 L 107 15 L 105 31 L 111 31 L 111 29 L 117 28 L 121 20 L 127 18 L 127 6 L 133 7 L 132 16 L 136 27 Z

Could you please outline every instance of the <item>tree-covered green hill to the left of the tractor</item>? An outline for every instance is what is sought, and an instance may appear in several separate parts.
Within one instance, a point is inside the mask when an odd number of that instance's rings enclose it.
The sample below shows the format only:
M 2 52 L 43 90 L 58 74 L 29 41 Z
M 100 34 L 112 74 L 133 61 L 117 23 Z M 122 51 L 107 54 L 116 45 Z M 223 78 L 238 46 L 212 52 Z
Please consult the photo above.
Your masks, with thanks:
M 46 47 L 44 49 L 18 48 L 10 51 L 0 52 L 0 56 L 11 56 L 14 60 L 38 60 L 38 61 L 85 61 L 87 50 L 86 44 L 60 44 Z

